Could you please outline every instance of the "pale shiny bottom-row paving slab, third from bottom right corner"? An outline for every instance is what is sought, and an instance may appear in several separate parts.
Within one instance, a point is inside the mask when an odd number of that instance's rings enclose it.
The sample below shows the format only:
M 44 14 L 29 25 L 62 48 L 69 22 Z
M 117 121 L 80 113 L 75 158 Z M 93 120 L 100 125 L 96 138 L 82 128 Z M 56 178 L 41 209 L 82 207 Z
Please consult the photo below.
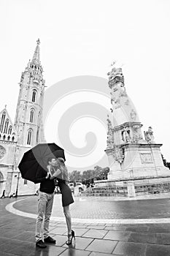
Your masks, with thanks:
M 93 242 L 86 248 L 86 250 L 93 252 L 112 253 L 116 244 L 117 241 L 101 241 L 101 239 L 94 239 Z

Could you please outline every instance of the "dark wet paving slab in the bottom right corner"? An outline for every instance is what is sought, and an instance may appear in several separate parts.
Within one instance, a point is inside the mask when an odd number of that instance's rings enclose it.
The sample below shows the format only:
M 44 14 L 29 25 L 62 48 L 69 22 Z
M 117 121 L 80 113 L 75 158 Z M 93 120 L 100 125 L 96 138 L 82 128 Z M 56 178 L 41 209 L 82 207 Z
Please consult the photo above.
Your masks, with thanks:
M 170 246 L 159 244 L 147 244 L 147 249 L 144 256 L 169 256 Z

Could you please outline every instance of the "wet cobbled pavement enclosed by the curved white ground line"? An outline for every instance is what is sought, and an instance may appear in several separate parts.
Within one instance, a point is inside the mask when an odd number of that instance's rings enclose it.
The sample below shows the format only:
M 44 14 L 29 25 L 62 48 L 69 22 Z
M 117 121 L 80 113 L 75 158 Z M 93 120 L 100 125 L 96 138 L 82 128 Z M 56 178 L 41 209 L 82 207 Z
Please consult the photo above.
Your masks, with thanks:
M 21 197 L 22 198 L 22 197 Z M 20 197 L 18 197 L 20 199 Z M 15 203 L 20 211 L 36 214 L 37 196 L 26 197 Z M 28 208 L 31 205 L 31 208 Z M 74 197 L 70 205 L 72 218 L 85 219 L 151 219 L 170 218 L 170 199 L 114 201 L 102 197 Z M 61 195 L 55 194 L 53 217 L 64 217 Z

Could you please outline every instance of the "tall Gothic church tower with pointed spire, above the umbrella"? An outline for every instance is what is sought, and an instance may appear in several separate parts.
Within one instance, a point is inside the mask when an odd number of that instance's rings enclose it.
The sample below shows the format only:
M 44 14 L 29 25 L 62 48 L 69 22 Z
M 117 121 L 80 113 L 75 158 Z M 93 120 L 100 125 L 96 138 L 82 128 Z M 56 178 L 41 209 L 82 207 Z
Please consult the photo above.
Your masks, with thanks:
M 42 106 L 45 91 L 42 64 L 39 59 L 39 39 L 34 56 L 20 78 L 20 92 L 15 115 L 18 146 L 32 147 L 44 142 Z

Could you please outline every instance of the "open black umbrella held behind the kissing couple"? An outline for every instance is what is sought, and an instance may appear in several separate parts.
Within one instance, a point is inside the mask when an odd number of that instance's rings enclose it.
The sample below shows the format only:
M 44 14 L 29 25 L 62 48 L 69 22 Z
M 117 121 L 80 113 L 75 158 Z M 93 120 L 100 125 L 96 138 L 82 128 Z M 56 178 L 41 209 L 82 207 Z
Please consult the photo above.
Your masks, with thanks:
M 22 178 L 35 182 L 36 178 L 45 177 L 49 157 L 62 157 L 65 160 L 63 148 L 55 143 L 42 143 L 26 151 L 18 165 Z

